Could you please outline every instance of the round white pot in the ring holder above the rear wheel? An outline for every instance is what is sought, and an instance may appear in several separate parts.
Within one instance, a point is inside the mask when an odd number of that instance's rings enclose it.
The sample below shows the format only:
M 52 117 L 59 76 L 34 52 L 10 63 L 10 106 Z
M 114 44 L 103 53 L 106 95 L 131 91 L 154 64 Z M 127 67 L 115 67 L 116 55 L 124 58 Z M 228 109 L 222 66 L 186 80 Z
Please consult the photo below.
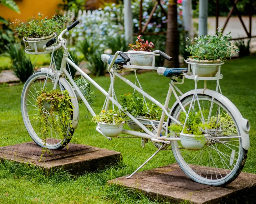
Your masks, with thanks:
M 219 71 L 219 66 L 214 66 L 213 64 L 220 64 L 220 59 L 217 60 L 198 60 L 198 59 L 188 59 L 189 62 L 197 63 L 196 64 L 196 75 L 199 77 L 215 77 L 217 72 Z M 206 65 L 200 65 L 206 64 Z M 191 65 L 191 69 L 193 71 L 193 65 Z

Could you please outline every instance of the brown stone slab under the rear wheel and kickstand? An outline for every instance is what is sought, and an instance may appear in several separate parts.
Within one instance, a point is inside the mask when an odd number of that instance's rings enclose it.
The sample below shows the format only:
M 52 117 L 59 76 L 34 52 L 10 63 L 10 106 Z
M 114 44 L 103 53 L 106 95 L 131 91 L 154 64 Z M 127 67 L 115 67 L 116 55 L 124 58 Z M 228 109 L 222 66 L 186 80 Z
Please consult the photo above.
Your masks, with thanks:
M 152 199 L 164 198 L 174 203 L 256 203 L 256 175 L 251 173 L 240 173 L 233 182 L 224 187 L 192 181 L 177 163 L 138 172 L 130 179 L 125 177 L 110 180 L 108 183 L 139 190 Z

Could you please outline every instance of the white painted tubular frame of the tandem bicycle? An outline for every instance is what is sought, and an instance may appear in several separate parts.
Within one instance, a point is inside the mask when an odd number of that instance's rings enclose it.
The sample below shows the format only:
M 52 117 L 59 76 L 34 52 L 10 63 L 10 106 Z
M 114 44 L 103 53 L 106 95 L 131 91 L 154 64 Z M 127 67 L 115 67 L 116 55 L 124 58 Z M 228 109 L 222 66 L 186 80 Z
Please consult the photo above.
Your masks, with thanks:
M 78 95 L 80 96 L 80 98 L 82 99 L 83 103 L 85 103 L 86 107 L 88 108 L 89 112 L 92 114 L 92 116 L 95 116 L 95 112 L 92 110 L 91 106 L 89 105 L 89 103 L 86 101 L 85 97 L 83 96 L 83 94 L 80 92 L 79 88 L 76 86 L 76 83 L 74 82 L 74 80 L 72 79 L 72 77 L 70 76 L 69 72 L 66 69 L 66 63 L 69 63 L 71 66 L 73 66 L 83 77 L 85 77 L 89 82 L 91 82 L 92 85 L 94 85 L 97 89 L 99 89 L 99 91 L 104 94 L 106 97 L 108 97 L 107 99 L 107 105 L 105 107 L 105 110 L 108 110 L 110 101 L 112 101 L 112 87 L 110 86 L 109 91 L 106 92 L 100 85 L 98 85 L 92 78 L 90 78 L 85 72 L 83 72 L 76 64 L 73 63 L 73 61 L 71 61 L 71 59 L 68 58 L 68 53 L 67 48 L 65 49 L 64 55 L 63 55 L 63 59 L 62 59 L 62 63 L 61 63 L 61 68 L 59 71 L 59 75 L 61 77 L 61 75 L 65 74 L 66 77 L 69 79 L 69 81 L 71 82 L 72 86 L 74 87 L 74 89 L 76 90 L 76 92 L 78 93 Z M 136 86 L 134 83 L 132 83 L 131 81 L 129 81 L 128 79 L 126 79 L 125 77 L 123 77 L 122 75 L 120 75 L 118 73 L 119 70 L 113 70 L 112 66 L 116 60 L 118 56 L 118 52 L 115 53 L 115 56 L 113 57 L 111 63 L 109 64 L 108 70 L 113 72 L 113 82 L 115 81 L 115 78 L 118 77 L 120 78 L 122 81 L 124 81 L 125 83 L 127 83 L 129 86 L 131 86 L 132 88 L 134 88 L 136 91 L 138 91 L 140 94 L 142 94 L 143 96 L 145 96 L 148 100 L 150 100 L 152 103 L 155 103 L 157 106 L 159 106 L 160 108 L 162 108 L 162 115 L 161 115 L 161 119 L 157 122 L 159 122 L 158 128 L 155 127 L 155 125 L 153 124 L 152 120 L 150 120 L 150 123 L 152 124 L 153 128 L 156 130 L 157 134 L 154 135 L 148 128 L 146 128 L 140 121 L 138 121 L 138 119 L 136 119 L 134 116 L 131 115 L 131 113 L 124 111 L 122 109 L 122 105 L 120 105 L 118 103 L 118 101 L 113 100 L 113 103 L 116 106 L 120 107 L 120 110 L 122 110 L 132 121 L 134 121 L 139 127 L 141 127 L 141 129 L 143 129 L 143 131 L 145 131 L 145 133 L 141 133 L 141 132 L 137 132 L 137 131 L 132 131 L 132 130 L 126 130 L 123 129 L 122 133 L 123 134 L 127 134 L 127 135 L 131 135 L 131 136 L 137 136 L 137 137 L 141 137 L 141 138 L 146 138 L 146 139 L 150 139 L 153 142 L 162 142 L 162 143 L 166 143 L 166 144 L 170 144 L 169 141 L 173 141 L 173 140 L 180 140 L 180 138 L 168 138 L 168 137 L 160 137 L 160 132 L 162 130 L 162 127 L 164 127 L 166 125 L 166 123 L 164 123 L 164 118 L 167 115 L 168 117 L 170 117 L 173 121 L 175 121 L 176 123 L 180 124 L 180 122 L 178 120 L 176 120 L 175 118 L 173 118 L 169 113 L 168 110 L 170 111 L 171 109 L 168 108 L 168 104 L 171 98 L 171 93 L 173 92 L 176 100 L 178 101 L 178 103 L 180 104 L 180 106 L 182 107 L 183 111 L 185 111 L 185 108 L 182 106 L 178 95 L 176 93 L 176 90 L 182 95 L 182 92 L 178 89 L 178 87 L 176 87 L 176 85 L 171 82 L 169 83 L 169 90 L 167 92 L 166 95 L 166 99 L 165 99 L 165 103 L 164 105 L 162 105 L 159 101 L 157 101 L 156 99 L 154 99 L 152 96 L 150 96 L 149 94 L 147 94 L 146 92 L 144 92 L 142 89 L 140 89 L 138 86 Z M 181 83 L 184 82 L 184 77 Z M 114 83 L 113 83 L 114 84 Z M 176 90 L 175 90 L 176 89 Z M 101 133 L 101 131 L 97 130 L 99 133 Z M 102 134 L 102 133 L 101 133 Z M 108 137 L 107 137 L 108 138 Z M 108 138 L 110 139 L 110 138 Z

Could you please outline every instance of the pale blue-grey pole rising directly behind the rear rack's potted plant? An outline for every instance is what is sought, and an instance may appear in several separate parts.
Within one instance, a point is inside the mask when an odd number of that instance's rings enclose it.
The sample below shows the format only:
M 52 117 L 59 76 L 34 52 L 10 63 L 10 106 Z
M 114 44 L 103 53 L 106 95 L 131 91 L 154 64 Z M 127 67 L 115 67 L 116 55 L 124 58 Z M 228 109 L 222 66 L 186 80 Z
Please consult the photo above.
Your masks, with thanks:
M 198 31 L 200 36 L 207 35 L 208 0 L 199 0 Z

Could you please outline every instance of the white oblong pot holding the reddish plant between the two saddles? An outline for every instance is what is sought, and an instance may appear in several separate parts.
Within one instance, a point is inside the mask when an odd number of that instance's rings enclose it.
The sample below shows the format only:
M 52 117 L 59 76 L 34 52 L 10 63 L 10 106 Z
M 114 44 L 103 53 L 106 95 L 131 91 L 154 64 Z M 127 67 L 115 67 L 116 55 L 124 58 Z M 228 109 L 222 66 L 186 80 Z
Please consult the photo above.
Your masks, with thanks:
M 130 64 L 136 66 L 152 66 L 153 52 L 129 50 Z

